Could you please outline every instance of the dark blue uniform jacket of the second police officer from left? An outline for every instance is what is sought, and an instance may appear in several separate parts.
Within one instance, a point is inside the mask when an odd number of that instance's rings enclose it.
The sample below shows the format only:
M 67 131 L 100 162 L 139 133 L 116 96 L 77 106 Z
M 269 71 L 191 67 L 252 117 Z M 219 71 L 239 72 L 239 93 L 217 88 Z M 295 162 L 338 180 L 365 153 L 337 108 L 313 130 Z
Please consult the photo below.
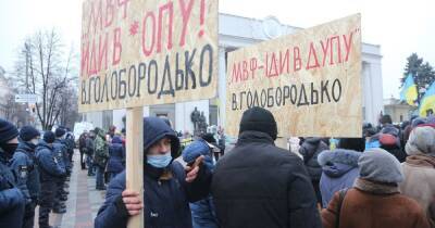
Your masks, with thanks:
M 35 149 L 32 142 L 21 141 L 11 161 L 11 168 L 17 174 L 18 187 L 27 202 L 36 201 L 40 191 Z

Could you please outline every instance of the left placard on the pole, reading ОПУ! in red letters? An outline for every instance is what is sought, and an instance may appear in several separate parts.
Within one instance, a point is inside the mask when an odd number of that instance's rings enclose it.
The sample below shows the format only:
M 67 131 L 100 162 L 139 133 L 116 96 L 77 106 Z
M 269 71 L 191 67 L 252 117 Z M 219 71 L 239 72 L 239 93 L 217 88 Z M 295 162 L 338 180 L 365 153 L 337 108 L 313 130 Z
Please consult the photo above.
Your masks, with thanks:
M 83 3 L 79 112 L 210 99 L 217 0 Z

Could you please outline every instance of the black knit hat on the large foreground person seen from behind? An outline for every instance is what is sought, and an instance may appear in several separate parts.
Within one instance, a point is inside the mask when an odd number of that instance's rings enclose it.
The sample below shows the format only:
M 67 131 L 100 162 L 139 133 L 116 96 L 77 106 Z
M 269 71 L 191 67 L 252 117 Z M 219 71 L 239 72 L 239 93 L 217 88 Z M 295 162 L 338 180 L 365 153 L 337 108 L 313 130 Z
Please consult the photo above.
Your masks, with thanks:
M 240 121 L 239 134 L 245 131 L 264 132 L 275 140 L 277 137 L 277 126 L 273 114 L 259 106 L 245 111 Z

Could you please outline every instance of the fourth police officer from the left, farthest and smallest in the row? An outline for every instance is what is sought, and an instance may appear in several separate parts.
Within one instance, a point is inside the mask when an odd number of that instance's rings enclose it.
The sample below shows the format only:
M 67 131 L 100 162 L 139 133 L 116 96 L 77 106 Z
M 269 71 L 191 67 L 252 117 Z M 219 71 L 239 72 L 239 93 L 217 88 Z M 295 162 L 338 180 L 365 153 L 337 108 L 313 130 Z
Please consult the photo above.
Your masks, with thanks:
M 59 165 L 65 169 L 66 176 L 70 175 L 70 159 L 67 155 L 67 148 L 64 144 L 64 137 L 66 131 L 63 128 L 57 128 L 54 131 L 55 140 L 53 142 L 53 152 L 58 159 Z M 60 177 L 57 180 L 57 192 L 54 195 L 53 212 L 63 214 L 66 212 L 65 201 L 67 200 L 67 191 L 65 191 L 66 176 Z

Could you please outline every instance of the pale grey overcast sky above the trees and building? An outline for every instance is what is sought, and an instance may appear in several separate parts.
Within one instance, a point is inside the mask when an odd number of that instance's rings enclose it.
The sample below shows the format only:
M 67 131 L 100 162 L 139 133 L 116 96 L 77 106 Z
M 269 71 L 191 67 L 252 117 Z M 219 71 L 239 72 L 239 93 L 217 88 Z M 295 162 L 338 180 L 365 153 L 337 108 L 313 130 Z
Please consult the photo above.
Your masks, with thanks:
M 57 28 L 78 52 L 83 0 L 0 0 L 0 66 L 11 71 L 20 45 L 38 29 Z M 417 52 L 435 66 L 433 0 L 220 0 L 220 12 L 311 27 L 360 12 L 362 40 L 381 45 L 384 98 L 399 97 L 406 58 Z

